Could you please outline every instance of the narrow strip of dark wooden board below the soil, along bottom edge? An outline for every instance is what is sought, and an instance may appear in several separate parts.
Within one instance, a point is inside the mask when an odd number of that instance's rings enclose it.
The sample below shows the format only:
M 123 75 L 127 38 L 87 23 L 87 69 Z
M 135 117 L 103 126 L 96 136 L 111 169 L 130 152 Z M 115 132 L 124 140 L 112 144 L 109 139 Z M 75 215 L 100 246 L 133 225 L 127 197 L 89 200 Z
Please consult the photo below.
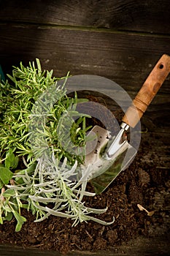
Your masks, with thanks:
M 164 240 L 163 238 L 136 238 L 133 241 L 128 241 L 128 243 L 124 243 L 121 246 L 115 246 L 115 248 L 112 251 L 104 251 L 104 252 L 87 252 L 87 251 L 76 251 L 76 252 L 70 252 L 66 255 L 68 256 L 152 256 L 152 255 L 158 255 L 158 256 L 168 256 L 169 255 L 169 241 Z M 42 251 L 39 249 L 29 248 L 29 249 L 23 249 L 22 247 L 18 246 L 3 246 L 0 245 L 0 254 L 1 256 L 39 256 L 39 255 L 45 255 L 45 256 L 61 256 L 61 253 L 54 252 L 54 251 Z

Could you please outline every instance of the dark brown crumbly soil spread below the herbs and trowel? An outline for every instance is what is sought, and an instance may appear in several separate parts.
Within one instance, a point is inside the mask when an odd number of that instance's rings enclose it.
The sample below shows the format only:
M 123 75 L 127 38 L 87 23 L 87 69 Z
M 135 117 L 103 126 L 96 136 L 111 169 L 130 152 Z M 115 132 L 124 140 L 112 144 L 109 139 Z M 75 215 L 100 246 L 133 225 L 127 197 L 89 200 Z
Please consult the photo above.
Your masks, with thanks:
M 15 233 L 15 219 L 0 225 L 0 243 L 66 253 L 77 249 L 113 249 L 137 236 L 164 236 L 166 239 L 170 231 L 169 168 L 161 157 L 152 154 L 154 140 L 158 140 L 154 133 L 142 133 L 142 142 L 131 166 L 101 195 L 85 198 L 87 206 L 107 206 L 107 212 L 97 217 L 110 222 L 114 216 L 113 225 L 103 226 L 90 221 L 72 227 L 72 220 L 52 216 L 34 223 L 35 217 L 24 211 L 22 214 L 27 222 L 19 233 Z M 155 211 L 154 214 L 148 216 L 137 204 L 147 211 Z

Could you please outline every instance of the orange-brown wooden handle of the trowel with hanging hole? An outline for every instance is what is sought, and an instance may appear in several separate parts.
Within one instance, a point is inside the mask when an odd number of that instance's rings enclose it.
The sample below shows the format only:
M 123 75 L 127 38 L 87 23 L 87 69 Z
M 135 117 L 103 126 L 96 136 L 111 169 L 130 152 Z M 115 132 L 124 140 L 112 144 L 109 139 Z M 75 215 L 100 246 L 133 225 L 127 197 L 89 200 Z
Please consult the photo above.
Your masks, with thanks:
M 130 127 L 135 127 L 142 118 L 143 113 L 147 110 L 148 105 L 157 94 L 161 85 L 170 72 L 170 56 L 163 54 L 161 59 L 152 69 L 147 80 L 136 95 L 132 105 L 128 108 L 123 116 L 123 122 Z

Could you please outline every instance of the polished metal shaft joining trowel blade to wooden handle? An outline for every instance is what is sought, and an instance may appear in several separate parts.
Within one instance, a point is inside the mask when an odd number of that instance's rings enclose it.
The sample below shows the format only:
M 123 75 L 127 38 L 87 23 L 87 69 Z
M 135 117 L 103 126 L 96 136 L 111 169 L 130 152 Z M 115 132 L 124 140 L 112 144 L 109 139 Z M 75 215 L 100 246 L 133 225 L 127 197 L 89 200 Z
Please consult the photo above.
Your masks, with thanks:
M 112 156 L 120 149 L 120 147 L 123 146 L 124 143 L 127 143 L 126 139 L 123 140 L 123 134 L 128 130 L 129 125 L 123 122 L 120 127 L 120 132 L 118 132 L 117 136 L 113 138 L 111 145 L 104 154 L 104 158 L 107 160 L 112 159 Z

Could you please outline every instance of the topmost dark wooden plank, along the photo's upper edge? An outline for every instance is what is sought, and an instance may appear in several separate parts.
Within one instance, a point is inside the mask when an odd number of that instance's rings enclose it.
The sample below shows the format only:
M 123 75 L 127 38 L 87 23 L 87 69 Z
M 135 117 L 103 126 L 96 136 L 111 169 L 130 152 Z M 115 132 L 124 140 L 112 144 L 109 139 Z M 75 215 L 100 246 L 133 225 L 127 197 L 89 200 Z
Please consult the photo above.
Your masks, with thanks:
M 169 34 L 169 0 L 1 1 L 0 20 Z

